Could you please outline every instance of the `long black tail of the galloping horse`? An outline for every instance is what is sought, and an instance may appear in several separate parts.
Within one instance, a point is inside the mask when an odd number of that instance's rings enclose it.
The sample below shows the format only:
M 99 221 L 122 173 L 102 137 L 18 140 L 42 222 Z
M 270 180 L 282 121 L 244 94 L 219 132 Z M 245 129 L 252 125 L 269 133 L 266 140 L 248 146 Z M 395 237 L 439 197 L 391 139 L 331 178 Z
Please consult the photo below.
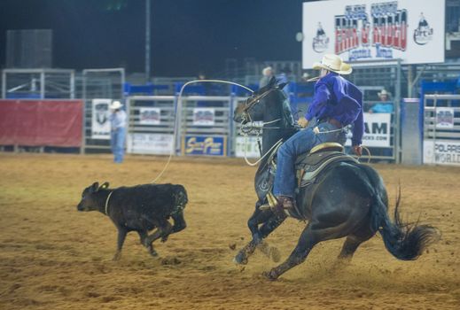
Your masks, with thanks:
M 380 232 L 386 250 L 391 252 L 395 258 L 398 260 L 417 260 L 429 244 L 439 239 L 438 230 L 430 225 L 419 225 L 418 221 L 405 223 L 401 220 L 399 212 L 401 186 L 398 187 L 394 221 L 391 221 L 387 212 L 386 191 L 381 178 L 374 169 L 366 167 L 365 170 L 374 191 L 370 208 L 371 229 Z

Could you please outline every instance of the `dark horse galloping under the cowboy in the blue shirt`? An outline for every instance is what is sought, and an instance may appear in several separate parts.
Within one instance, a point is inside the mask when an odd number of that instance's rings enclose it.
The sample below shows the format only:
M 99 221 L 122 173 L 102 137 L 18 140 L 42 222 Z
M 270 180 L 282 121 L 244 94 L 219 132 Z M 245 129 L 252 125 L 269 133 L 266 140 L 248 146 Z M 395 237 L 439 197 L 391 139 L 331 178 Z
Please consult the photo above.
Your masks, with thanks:
M 287 139 L 298 129 L 285 95 L 284 85 L 271 81 L 268 86 L 254 93 L 244 105 L 238 105 L 233 120 L 246 124 L 261 120 L 262 153 L 272 148 L 280 139 Z M 253 239 L 235 257 L 238 264 L 246 264 L 248 257 L 259 247 L 262 252 L 279 260 L 276 248 L 262 240 L 285 221 L 269 208 L 269 157 L 261 160 L 255 175 L 255 190 L 259 200 L 247 222 Z M 437 229 L 418 223 L 404 223 L 399 216 L 398 195 L 394 221 L 388 217 L 388 198 L 385 185 L 377 171 L 353 161 L 339 161 L 320 173 L 316 184 L 301 188 L 297 195 L 298 214 L 292 217 L 308 220 L 299 242 L 289 258 L 263 275 L 275 280 L 287 270 L 303 262 L 311 249 L 319 242 L 347 236 L 339 259 L 351 260 L 360 244 L 377 232 L 383 237 L 386 249 L 399 260 L 416 260 L 428 244 L 438 238 Z

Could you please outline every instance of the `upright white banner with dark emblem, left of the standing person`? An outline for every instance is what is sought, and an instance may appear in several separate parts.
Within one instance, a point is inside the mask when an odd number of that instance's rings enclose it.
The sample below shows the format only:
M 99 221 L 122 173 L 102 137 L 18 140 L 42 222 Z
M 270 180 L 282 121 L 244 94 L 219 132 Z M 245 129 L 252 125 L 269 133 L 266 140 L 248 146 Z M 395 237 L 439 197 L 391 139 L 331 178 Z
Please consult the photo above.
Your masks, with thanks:
M 110 111 L 112 99 L 92 100 L 91 138 L 110 139 Z

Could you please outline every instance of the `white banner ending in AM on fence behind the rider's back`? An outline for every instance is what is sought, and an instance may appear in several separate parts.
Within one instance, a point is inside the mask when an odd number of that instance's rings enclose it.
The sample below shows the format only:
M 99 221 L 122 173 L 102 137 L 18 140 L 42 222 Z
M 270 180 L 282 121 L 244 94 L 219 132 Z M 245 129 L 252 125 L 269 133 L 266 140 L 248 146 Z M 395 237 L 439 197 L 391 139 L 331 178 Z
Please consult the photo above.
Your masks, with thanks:
M 391 113 L 364 113 L 363 145 L 390 147 Z M 352 132 L 348 132 L 347 145 L 351 145 Z

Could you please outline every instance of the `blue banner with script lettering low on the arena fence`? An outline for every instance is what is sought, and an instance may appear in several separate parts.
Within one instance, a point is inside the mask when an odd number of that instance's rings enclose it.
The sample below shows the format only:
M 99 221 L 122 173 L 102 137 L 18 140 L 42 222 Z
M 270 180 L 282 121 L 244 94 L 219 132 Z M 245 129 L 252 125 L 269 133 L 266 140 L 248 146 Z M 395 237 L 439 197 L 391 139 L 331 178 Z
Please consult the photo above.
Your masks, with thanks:
M 183 155 L 226 156 L 226 136 L 184 136 Z

